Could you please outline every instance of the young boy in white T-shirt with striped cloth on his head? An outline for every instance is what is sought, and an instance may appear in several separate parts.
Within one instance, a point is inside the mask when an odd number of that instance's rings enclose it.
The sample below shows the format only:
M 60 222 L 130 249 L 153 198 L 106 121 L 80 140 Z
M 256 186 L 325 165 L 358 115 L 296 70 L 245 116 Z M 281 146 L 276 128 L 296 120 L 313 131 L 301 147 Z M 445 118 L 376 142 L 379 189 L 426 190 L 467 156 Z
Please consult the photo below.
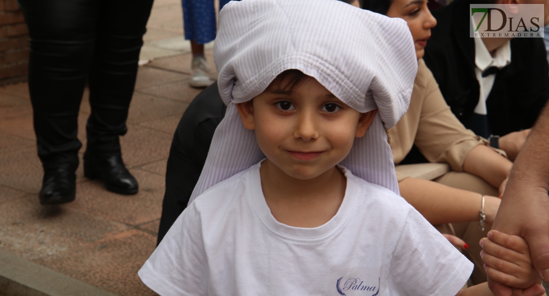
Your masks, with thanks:
M 384 127 L 417 71 L 406 23 L 333 0 L 245 0 L 223 8 L 215 46 L 227 113 L 200 196 L 143 282 L 161 295 L 460 291 L 472 264 L 396 194 Z

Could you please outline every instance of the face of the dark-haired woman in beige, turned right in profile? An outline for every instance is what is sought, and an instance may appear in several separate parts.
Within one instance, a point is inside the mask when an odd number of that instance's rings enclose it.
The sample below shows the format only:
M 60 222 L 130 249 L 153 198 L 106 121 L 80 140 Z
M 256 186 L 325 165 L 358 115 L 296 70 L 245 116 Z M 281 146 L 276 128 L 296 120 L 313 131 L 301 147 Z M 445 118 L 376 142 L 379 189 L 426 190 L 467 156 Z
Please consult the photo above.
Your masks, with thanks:
M 427 8 L 427 0 L 393 0 L 387 16 L 401 18 L 408 23 L 416 45 L 417 59 L 421 59 L 431 37 L 431 28 L 436 26 L 436 19 Z

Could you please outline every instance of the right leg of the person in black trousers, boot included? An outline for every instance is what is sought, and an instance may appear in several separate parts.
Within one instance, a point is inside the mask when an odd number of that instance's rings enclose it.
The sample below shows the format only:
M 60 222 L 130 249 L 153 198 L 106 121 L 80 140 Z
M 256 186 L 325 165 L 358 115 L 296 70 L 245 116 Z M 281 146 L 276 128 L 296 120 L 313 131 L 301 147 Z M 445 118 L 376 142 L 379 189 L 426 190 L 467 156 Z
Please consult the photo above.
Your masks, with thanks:
M 119 136 L 126 119 L 137 76 L 139 51 L 153 0 L 100 1 L 96 49 L 89 71 L 85 175 L 100 178 L 107 189 L 137 193 L 137 181 L 126 170 Z

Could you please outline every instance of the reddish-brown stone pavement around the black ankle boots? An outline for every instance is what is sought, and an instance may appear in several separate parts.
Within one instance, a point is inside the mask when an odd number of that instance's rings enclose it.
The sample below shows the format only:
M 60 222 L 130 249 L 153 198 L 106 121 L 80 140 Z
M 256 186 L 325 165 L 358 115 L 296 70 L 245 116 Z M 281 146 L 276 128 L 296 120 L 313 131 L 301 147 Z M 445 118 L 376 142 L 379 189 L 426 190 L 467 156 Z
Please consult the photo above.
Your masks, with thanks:
M 191 55 L 181 14 L 180 0 L 155 0 L 144 36 L 141 59 L 152 61 L 139 67 L 128 133 L 121 137 L 122 156 L 139 182 L 137 195 L 110 193 L 85 178 L 81 160 L 76 200 L 38 204 L 43 172 L 28 86 L 0 87 L 0 251 L 117 295 L 155 295 L 137 271 L 155 248 L 173 132 L 200 92 L 188 86 Z M 215 69 L 211 44 L 206 49 Z M 87 94 L 79 117 L 80 156 L 90 112 Z

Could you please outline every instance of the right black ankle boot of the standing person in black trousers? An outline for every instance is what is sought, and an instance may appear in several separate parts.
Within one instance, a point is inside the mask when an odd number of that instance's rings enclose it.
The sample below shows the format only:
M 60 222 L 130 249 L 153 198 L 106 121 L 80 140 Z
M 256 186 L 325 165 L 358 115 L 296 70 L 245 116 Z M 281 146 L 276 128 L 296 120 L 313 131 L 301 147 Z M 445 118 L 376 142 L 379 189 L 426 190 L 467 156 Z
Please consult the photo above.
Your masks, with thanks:
M 124 166 L 122 157 L 118 155 L 84 154 L 84 176 L 90 179 L 100 179 L 109 191 L 119 194 L 136 194 L 138 185 L 136 179 Z

